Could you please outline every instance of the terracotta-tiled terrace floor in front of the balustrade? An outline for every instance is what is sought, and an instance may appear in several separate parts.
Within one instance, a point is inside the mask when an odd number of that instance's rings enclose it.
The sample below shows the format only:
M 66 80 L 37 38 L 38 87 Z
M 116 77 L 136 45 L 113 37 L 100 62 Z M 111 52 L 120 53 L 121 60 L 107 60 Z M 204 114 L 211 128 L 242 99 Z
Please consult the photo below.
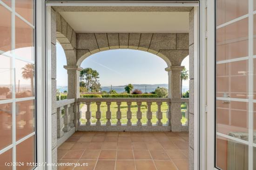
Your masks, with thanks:
M 58 163 L 84 164 L 58 170 L 188 170 L 188 136 L 188 132 L 75 132 L 58 148 Z

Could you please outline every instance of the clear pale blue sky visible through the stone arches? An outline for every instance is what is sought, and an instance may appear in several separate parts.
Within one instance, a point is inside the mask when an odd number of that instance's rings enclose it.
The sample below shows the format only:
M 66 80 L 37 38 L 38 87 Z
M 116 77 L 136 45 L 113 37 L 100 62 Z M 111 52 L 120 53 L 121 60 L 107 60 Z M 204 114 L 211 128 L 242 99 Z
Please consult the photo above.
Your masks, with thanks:
M 67 65 L 65 52 L 57 43 L 57 86 L 67 86 Z M 189 69 L 189 57 L 182 61 Z M 149 52 L 141 50 L 106 50 L 87 57 L 82 68 L 90 67 L 100 74 L 101 86 L 121 86 L 126 84 L 168 84 L 165 61 Z M 183 81 L 189 86 L 189 81 Z

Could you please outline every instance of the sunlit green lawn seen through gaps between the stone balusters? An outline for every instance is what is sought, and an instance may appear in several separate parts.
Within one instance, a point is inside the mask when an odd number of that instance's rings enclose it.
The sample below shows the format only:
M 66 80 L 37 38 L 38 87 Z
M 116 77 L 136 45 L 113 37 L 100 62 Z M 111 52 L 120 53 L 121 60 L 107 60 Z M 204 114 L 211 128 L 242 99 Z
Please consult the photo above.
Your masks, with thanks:
M 84 106 L 84 103 L 82 103 L 80 105 L 80 108 Z M 136 119 L 136 112 L 137 112 L 138 106 L 136 105 L 136 102 L 132 102 L 131 105 L 131 111 L 132 111 L 132 124 L 136 124 L 137 119 Z M 163 113 L 163 119 L 162 119 L 162 123 L 165 124 L 167 122 L 167 118 L 166 118 L 166 112 L 168 109 L 168 105 L 166 102 L 163 102 L 162 106 L 161 106 L 161 111 Z M 182 111 L 182 124 L 185 124 L 187 119 L 185 118 L 185 112 L 187 110 L 187 106 L 186 104 L 182 104 L 181 105 L 181 111 Z M 92 118 L 91 118 L 91 122 L 94 124 L 97 119 L 95 118 L 95 113 L 97 111 L 97 105 L 95 102 L 92 102 L 91 104 L 91 111 L 92 111 Z M 117 119 L 116 118 L 116 111 L 117 111 L 117 104 L 116 102 L 112 102 L 110 105 L 110 111 L 111 111 L 111 123 L 112 124 L 116 124 Z M 155 102 L 152 103 L 151 105 L 151 111 L 153 112 L 153 118 L 152 118 L 152 123 L 155 124 L 157 119 L 156 119 L 156 115 L 155 112 L 157 111 L 157 105 Z M 101 103 L 101 123 L 105 124 L 107 122 L 106 120 L 106 112 L 107 112 L 107 104 L 106 102 L 102 102 Z M 121 123 L 122 124 L 126 124 L 127 123 L 127 119 L 126 119 L 126 112 L 127 112 L 127 104 L 125 102 L 122 102 L 121 104 Z M 142 124 L 146 124 L 147 123 L 147 104 L 146 102 L 142 102 L 141 104 L 141 112 L 142 112 L 142 119 L 141 122 Z M 85 119 L 81 119 L 82 124 L 85 124 L 86 120 Z

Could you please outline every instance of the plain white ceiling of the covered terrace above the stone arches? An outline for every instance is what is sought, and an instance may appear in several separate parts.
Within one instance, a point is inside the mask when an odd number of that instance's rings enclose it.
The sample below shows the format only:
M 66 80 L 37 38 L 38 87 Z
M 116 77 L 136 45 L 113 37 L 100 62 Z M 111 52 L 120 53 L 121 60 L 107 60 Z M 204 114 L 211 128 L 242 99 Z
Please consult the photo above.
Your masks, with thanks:
M 60 12 L 79 32 L 188 33 L 189 12 Z

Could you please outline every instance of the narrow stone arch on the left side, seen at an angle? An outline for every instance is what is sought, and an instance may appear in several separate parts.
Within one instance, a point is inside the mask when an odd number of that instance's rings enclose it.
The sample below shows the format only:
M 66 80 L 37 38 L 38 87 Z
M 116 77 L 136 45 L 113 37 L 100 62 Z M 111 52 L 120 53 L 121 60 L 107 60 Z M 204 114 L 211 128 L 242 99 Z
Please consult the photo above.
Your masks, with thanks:
M 58 12 L 56 12 L 56 40 L 65 52 L 67 65 L 76 65 L 76 32 Z

